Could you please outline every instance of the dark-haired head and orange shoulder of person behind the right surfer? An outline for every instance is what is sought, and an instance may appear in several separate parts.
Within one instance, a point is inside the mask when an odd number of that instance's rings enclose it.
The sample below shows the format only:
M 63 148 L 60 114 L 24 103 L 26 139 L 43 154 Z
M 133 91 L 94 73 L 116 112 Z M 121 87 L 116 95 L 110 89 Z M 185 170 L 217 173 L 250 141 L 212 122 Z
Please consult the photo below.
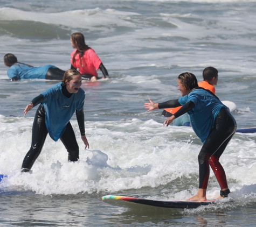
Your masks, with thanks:
M 213 67 L 207 67 L 203 70 L 204 81 L 198 83 L 198 86 L 210 90 L 215 94 L 215 87 L 218 82 L 218 70 Z

